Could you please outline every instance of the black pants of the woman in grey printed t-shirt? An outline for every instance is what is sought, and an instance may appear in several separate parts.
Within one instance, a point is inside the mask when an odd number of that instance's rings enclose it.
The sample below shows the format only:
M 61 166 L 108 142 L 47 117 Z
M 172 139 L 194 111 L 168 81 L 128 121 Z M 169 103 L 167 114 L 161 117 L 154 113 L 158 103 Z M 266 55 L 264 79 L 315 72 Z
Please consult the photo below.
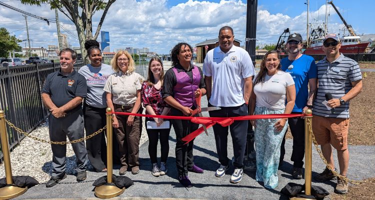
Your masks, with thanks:
M 84 129 L 86 135 L 91 135 L 98 129 L 104 127 L 105 108 L 97 108 L 83 105 Z M 106 165 L 106 143 L 105 131 L 86 140 L 87 156 L 96 171 L 101 171 Z

